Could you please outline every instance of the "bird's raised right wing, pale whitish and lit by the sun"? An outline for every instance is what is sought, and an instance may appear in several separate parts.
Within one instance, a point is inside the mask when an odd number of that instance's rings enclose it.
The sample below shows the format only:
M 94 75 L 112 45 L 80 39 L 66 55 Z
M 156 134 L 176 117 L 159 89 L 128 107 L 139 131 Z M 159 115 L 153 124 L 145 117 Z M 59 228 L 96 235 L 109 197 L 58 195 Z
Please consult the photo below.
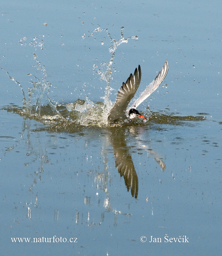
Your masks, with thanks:
M 166 60 L 166 62 L 164 63 L 164 66 L 162 67 L 161 71 L 159 72 L 159 74 L 157 75 L 157 77 L 154 79 L 154 81 L 152 81 L 152 83 L 150 83 L 147 88 L 145 89 L 145 91 L 143 91 L 141 93 L 141 95 L 139 96 L 139 98 L 134 102 L 134 104 L 128 108 L 137 108 L 139 106 L 139 104 L 141 104 L 143 101 L 145 101 L 145 99 L 151 95 L 152 92 L 154 92 L 158 86 L 162 83 L 162 81 L 164 80 L 167 72 L 168 72 L 168 61 Z

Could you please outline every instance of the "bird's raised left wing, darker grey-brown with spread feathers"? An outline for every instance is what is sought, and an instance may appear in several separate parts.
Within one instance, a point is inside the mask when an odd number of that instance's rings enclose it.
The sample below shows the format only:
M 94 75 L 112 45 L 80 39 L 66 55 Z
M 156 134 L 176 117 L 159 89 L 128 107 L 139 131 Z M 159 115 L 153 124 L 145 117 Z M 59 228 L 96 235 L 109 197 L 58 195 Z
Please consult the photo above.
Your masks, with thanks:
M 117 98 L 113 107 L 108 114 L 108 122 L 111 124 L 113 122 L 124 121 L 126 117 L 126 109 L 136 93 L 139 83 L 141 80 L 141 68 L 140 66 L 135 69 L 134 75 L 130 74 L 126 83 L 122 83 L 120 91 L 117 92 Z

